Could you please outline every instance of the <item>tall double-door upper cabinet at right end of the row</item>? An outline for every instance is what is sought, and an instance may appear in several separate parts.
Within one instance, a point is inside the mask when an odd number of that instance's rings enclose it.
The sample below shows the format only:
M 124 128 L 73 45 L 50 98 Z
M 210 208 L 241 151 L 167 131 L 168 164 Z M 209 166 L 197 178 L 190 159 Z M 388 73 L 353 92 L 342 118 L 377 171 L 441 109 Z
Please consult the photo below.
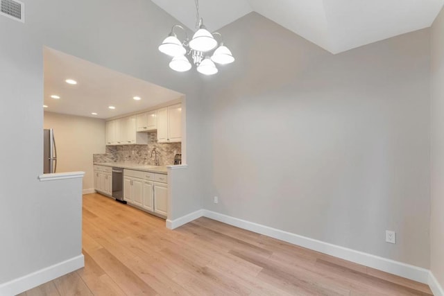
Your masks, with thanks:
M 157 110 L 157 142 L 182 141 L 182 104 Z

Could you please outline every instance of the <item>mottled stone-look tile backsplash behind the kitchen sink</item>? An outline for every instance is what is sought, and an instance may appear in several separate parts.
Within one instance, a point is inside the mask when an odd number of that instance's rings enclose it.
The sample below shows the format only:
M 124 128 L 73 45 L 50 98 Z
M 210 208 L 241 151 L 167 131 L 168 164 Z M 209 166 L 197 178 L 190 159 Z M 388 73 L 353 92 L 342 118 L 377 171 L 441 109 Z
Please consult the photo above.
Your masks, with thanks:
M 94 162 L 132 162 L 154 166 L 155 148 L 161 166 L 174 164 L 174 155 L 181 153 L 182 143 L 157 143 L 157 132 L 148 133 L 148 145 L 106 146 L 105 154 L 94 154 Z

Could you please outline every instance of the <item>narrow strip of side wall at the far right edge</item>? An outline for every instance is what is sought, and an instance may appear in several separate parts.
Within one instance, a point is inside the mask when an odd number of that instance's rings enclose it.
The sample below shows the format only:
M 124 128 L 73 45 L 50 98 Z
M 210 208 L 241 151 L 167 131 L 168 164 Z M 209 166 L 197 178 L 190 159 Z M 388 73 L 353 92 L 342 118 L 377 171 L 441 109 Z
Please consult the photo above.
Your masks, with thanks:
M 431 264 L 444 287 L 444 10 L 432 26 L 432 218 Z

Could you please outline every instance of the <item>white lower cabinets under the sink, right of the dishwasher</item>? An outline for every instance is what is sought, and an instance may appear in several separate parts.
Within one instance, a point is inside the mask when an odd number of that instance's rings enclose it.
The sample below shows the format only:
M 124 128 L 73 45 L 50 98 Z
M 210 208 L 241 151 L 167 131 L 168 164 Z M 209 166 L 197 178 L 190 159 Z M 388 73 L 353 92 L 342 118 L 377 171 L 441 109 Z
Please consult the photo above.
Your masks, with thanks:
M 124 170 L 123 200 L 130 205 L 167 218 L 168 185 L 166 182 L 167 175 Z

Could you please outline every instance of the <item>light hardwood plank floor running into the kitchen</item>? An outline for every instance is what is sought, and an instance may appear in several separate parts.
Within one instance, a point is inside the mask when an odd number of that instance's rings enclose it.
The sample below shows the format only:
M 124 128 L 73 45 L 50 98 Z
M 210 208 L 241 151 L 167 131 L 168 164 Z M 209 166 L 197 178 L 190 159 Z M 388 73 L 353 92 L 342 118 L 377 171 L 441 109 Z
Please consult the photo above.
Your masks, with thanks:
M 424 284 L 207 218 L 164 225 L 84 195 L 85 268 L 20 295 L 432 295 Z

